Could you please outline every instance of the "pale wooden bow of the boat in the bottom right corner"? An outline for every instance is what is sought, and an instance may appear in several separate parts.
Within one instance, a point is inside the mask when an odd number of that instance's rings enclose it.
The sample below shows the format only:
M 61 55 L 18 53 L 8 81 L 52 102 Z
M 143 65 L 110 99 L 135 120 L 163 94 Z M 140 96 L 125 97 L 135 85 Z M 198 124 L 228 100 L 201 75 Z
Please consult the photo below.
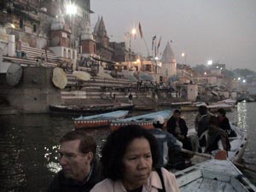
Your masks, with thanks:
M 230 160 L 207 160 L 175 173 L 181 192 L 256 192 Z

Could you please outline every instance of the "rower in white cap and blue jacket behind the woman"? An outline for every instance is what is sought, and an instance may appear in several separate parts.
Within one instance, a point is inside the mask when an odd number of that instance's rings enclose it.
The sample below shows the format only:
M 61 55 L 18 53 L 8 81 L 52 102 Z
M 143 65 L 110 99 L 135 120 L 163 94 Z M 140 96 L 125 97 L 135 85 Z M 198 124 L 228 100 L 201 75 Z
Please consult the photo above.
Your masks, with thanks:
M 158 115 L 154 118 L 154 129 L 148 130 L 154 135 L 158 143 L 160 161 L 159 166 L 166 166 L 169 162 L 169 154 L 179 154 L 183 143 L 179 142 L 176 137 L 173 137 L 171 133 L 163 131 L 165 120 L 162 116 Z

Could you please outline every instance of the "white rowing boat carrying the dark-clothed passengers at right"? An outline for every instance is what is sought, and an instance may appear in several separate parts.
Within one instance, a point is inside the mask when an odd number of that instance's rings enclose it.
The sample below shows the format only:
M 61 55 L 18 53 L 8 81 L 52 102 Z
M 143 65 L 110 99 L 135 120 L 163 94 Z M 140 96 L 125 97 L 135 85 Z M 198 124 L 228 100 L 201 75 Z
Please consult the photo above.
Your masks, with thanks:
M 228 151 L 228 157 L 233 163 L 236 163 L 241 161 L 241 158 L 247 148 L 248 135 L 246 130 L 242 130 L 236 125 L 230 124 L 230 127 L 233 131 L 236 132 L 236 137 L 229 137 L 231 148 L 230 148 L 230 151 Z M 195 129 L 189 130 L 189 134 L 188 134 L 189 137 L 192 137 L 195 134 L 196 134 Z M 206 136 L 207 136 L 207 131 L 202 133 L 201 138 Z M 203 151 L 204 151 L 204 148 L 202 148 L 202 152 Z

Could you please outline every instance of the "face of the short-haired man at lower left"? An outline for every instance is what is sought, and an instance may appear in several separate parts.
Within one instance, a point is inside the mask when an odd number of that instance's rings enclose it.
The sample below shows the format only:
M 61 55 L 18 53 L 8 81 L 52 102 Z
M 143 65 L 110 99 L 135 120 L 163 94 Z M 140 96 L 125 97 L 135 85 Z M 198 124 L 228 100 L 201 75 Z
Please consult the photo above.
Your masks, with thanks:
M 87 154 L 79 152 L 79 144 L 79 140 L 61 143 L 60 164 L 65 177 L 82 182 L 90 172 L 90 162 L 93 154 L 92 152 Z

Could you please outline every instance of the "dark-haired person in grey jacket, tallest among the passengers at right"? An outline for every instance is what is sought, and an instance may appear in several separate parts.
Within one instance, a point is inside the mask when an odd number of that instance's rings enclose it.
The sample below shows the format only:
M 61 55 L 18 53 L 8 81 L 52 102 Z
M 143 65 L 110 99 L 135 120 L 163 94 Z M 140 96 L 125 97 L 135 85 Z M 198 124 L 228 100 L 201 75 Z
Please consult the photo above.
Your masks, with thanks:
M 208 113 L 207 106 L 201 105 L 198 108 L 198 113 L 195 117 L 195 131 L 197 131 L 197 137 L 201 147 L 206 146 L 206 138 L 201 135 L 208 130 L 208 124 L 212 113 Z

